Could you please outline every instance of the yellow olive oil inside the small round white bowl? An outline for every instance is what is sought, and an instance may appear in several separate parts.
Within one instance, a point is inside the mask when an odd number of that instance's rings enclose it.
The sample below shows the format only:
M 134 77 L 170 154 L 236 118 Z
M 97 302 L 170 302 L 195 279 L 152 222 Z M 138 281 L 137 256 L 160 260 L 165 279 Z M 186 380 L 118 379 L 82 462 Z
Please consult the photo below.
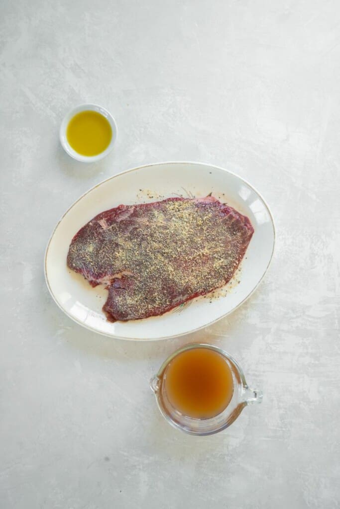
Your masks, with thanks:
M 109 121 L 97 111 L 81 111 L 69 121 L 66 137 L 75 152 L 91 157 L 108 148 L 112 129 Z

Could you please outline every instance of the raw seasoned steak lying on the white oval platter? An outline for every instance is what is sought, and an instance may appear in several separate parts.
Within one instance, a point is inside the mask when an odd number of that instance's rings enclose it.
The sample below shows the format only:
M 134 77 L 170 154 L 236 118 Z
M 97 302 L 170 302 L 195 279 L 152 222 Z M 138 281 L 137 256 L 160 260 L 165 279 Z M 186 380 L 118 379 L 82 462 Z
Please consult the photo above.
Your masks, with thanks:
M 119 205 L 73 237 L 67 265 L 106 286 L 109 320 L 136 320 L 225 285 L 252 234 L 248 217 L 213 196 Z

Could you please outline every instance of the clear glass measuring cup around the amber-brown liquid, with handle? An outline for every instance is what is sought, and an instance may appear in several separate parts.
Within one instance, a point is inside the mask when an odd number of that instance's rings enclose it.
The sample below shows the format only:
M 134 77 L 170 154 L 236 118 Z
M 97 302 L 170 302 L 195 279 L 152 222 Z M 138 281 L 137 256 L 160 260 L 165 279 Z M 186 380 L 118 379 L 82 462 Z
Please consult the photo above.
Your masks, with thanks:
M 182 352 L 197 348 L 207 348 L 219 353 L 228 364 L 233 379 L 232 396 L 222 412 L 209 418 L 194 418 L 181 413 L 170 402 L 166 391 L 167 370 L 171 361 Z M 248 387 L 244 373 L 238 362 L 227 352 L 213 345 L 192 343 L 170 355 L 160 367 L 159 372 L 151 378 L 150 387 L 153 390 L 158 407 L 165 419 L 175 428 L 191 435 L 212 435 L 224 430 L 240 415 L 244 407 L 262 401 L 262 391 Z

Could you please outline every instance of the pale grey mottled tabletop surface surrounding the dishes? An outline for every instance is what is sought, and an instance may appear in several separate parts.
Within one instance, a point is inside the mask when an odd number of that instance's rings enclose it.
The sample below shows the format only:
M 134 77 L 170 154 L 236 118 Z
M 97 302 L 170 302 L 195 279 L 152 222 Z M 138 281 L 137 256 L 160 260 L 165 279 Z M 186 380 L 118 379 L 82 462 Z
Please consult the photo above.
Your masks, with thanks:
M 3 0 L 0 23 L 1 509 L 339 507 L 338 0 Z M 119 138 L 84 166 L 58 129 L 90 101 Z M 55 223 L 100 180 L 176 159 L 263 193 L 277 228 L 265 281 L 179 340 L 74 324 L 44 282 Z M 148 387 L 194 340 L 264 390 L 207 438 L 168 426 Z

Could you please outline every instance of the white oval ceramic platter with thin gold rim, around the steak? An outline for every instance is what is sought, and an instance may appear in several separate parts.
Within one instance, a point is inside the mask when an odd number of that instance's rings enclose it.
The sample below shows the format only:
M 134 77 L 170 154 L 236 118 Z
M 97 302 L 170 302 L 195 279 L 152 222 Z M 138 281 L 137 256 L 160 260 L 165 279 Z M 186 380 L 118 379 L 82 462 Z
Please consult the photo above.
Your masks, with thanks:
M 66 265 L 75 233 L 99 212 L 171 196 L 208 193 L 249 217 L 254 235 L 240 269 L 211 298 L 199 297 L 160 317 L 110 323 L 101 308 L 107 290 L 91 288 Z M 80 197 L 57 224 L 46 249 L 47 287 L 58 306 L 84 327 L 125 340 L 157 340 L 193 332 L 224 317 L 242 304 L 265 275 L 275 241 L 269 208 L 255 189 L 223 168 L 194 162 L 165 162 L 130 169 L 101 182 Z

